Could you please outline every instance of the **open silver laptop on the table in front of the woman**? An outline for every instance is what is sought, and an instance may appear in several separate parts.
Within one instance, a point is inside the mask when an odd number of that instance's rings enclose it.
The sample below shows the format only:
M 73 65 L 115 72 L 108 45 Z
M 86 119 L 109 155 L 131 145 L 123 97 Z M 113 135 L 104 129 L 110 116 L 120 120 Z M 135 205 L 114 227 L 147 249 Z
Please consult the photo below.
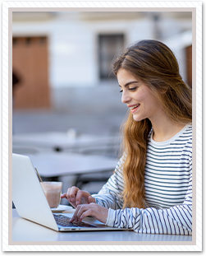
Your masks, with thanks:
M 89 221 L 70 223 L 70 218 L 65 214 L 53 213 L 29 156 L 12 154 L 12 199 L 19 216 L 53 230 L 126 230 Z

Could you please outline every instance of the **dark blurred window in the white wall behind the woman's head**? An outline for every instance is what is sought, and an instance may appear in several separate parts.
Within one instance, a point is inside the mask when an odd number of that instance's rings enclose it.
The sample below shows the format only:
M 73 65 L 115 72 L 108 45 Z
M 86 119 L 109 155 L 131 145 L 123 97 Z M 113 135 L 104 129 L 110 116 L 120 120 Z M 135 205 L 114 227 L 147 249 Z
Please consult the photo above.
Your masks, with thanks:
M 124 45 L 124 35 L 98 35 L 98 67 L 101 80 L 115 78 L 111 72 L 111 63 Z

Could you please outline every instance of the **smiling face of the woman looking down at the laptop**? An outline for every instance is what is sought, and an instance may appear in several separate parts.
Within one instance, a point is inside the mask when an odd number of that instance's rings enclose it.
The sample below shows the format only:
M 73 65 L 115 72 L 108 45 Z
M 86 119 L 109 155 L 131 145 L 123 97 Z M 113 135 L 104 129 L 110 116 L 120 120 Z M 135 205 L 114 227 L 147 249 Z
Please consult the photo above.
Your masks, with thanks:
M 161 117 L 163 109 L 143 81 L 123 68 L 117 72 L 117 80 L 121 87 L 121 101 L 130 108 L 135 121 L 148 118 L 153 123 Z

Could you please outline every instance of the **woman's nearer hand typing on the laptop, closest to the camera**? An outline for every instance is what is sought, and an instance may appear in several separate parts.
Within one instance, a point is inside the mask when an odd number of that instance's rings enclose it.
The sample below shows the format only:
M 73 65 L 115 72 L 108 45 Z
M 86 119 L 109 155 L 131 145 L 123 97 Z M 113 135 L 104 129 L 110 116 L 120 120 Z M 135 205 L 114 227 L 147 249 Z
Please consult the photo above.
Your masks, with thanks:
M 108 208 L 101 207 L 94 202 L 78 205 L 70 222 L 82 221 L 86 216 L 94 216 L 98 221 L 106 223 L 108 218 Z

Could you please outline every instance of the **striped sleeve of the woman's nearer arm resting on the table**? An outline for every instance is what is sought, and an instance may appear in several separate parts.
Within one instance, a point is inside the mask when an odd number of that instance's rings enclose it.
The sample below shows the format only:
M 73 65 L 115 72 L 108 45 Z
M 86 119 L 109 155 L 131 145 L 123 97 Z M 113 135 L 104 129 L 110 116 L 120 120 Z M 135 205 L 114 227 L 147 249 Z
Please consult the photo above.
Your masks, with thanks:
M 130 228 L 139 233 L 192 235 L 192 160 L 190 158 L 190 182 L 181 205 L 168 209 L 125 208 L 109 209 L 107 226 Z

